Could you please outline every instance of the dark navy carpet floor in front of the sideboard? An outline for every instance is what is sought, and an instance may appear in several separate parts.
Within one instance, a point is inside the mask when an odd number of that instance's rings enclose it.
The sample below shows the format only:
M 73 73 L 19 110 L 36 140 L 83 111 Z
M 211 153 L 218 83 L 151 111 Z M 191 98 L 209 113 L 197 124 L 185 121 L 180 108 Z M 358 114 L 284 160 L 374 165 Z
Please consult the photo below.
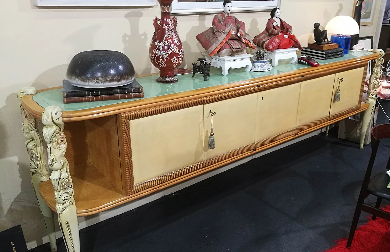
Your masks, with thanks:
M 379 146 L 374 174 L 388 146 Z M 348 235 L 370 154 L 370 146 L 311 137 L 82 229 L 81 250 L 320 252 Z M 66 251 L 62 238 L 57 244 Z

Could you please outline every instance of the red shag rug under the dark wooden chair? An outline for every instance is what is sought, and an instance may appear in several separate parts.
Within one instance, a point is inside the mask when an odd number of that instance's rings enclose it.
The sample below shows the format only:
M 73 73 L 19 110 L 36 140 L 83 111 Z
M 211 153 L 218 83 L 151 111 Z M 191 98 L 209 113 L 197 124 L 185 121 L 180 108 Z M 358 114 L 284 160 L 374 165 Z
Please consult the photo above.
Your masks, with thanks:
M 382 209 L 390 212 L 390 206 Z M 351 247 L 346 248 L 348 238 L 344 238 L 325 252 L 390 252 L 390 222 L 379 217 L 368 219 L 367 224 L 356 229 Z

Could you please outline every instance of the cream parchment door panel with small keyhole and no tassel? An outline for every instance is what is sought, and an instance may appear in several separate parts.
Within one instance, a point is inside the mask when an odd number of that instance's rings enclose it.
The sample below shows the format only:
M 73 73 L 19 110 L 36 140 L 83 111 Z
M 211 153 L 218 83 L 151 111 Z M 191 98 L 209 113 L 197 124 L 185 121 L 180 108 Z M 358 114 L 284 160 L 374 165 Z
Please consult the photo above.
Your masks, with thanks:
M 255 142 L 296 127 L 301 83 L 257 93 Z

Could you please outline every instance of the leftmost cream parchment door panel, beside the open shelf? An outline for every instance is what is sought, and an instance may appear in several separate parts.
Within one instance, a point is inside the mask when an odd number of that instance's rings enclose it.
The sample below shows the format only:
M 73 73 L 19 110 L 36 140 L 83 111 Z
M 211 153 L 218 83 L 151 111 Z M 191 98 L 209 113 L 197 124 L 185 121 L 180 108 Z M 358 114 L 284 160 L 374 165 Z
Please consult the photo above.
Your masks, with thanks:
M 130 121 L 134 183 L 203 159 L 203 105 Z

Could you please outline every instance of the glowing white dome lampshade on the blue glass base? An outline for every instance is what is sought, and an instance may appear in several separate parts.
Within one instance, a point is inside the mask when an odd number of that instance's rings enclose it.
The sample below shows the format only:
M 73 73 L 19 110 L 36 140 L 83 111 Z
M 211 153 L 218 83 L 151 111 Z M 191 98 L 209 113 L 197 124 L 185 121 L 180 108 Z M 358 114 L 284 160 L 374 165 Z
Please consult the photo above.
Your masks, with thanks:
M 328 34 L 354 35 L 359 34 L 359 25 L 350 16 L 336 16 L 325 27 Z

